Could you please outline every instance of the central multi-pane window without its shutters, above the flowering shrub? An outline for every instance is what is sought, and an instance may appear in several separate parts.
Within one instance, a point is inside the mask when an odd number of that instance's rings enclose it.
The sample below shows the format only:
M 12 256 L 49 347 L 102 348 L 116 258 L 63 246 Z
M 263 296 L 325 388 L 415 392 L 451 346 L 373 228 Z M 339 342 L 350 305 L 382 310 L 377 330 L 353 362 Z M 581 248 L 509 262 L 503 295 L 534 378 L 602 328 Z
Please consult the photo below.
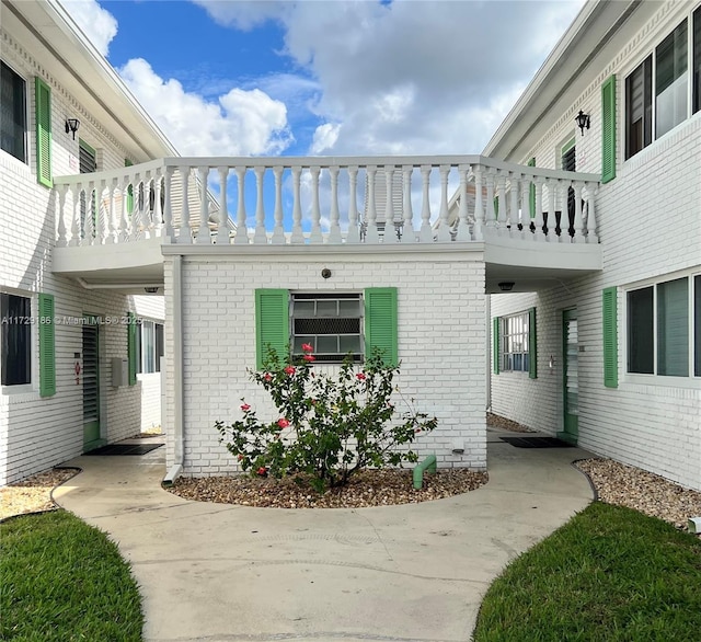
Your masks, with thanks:
M 353 354 L 363 359 L 363 310 L 359 294 L 292 294 L 292 355 L 308 343 L 319 362 L 342 362 Z

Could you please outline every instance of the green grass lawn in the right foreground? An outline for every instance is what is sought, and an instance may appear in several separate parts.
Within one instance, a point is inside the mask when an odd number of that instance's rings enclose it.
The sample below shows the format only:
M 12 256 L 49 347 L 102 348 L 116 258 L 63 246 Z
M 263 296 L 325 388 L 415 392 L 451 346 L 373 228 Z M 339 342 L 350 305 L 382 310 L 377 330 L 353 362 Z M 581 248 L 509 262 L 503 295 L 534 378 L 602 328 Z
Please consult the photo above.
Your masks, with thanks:
M 487 591 L 475 642 L 701 640 L 701 540 L 590 504 Z

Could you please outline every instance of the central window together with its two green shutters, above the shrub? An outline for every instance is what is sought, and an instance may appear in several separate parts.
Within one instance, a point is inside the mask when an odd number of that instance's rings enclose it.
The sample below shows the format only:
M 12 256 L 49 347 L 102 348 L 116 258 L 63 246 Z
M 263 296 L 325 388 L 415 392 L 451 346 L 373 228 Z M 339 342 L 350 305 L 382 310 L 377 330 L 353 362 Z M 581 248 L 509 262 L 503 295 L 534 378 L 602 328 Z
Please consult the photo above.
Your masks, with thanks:
M 397 288 L 363 293 L 255 291 L 256 364 L 263 367 L 268 347 L 286 357 L 302 354 L 309 343 L 319 362 L 340 363 L 348 353 L 356 362 L 378 348 L 398 363 Z

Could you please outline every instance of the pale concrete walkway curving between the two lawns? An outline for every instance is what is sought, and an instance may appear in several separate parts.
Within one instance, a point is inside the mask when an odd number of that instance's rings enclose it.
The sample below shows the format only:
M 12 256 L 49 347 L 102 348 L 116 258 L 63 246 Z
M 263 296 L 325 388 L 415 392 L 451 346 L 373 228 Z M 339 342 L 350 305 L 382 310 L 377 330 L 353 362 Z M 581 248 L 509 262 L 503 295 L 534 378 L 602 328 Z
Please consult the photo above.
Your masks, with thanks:
M 164 448 L 79 457 L 55 500 L 107 531 L 143 595 L 149 642 L 470 639 L 502 569 L 591 501 L 576 448 L 489 432 L 490 482 L 382 508 L 249 508 L 163 491 Z

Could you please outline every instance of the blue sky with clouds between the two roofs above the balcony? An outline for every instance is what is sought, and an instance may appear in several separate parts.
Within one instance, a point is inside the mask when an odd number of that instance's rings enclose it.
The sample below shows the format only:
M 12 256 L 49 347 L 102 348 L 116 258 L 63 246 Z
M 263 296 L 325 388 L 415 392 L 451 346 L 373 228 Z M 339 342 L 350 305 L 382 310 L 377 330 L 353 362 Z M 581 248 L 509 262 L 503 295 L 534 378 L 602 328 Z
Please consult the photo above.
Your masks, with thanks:
M 479 153 L 582 0 L 64 0 L 183 156 Z

